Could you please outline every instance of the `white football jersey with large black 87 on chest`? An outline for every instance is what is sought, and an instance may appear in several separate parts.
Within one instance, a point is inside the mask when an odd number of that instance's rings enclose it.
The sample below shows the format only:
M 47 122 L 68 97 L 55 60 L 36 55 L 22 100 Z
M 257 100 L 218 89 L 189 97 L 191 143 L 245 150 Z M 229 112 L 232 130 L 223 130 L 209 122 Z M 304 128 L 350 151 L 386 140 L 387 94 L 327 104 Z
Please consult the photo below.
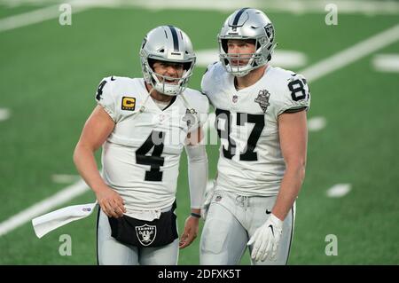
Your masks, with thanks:
M 305 78 L 269 66 L 257 83 L 236 90 L 234 76 L 218 62 L 207 68 L 201 88 L 215 107 L 221 139 L 216 185 L 247 196 L 278 194 L 286 170 L 278 115 L 309 108 Z

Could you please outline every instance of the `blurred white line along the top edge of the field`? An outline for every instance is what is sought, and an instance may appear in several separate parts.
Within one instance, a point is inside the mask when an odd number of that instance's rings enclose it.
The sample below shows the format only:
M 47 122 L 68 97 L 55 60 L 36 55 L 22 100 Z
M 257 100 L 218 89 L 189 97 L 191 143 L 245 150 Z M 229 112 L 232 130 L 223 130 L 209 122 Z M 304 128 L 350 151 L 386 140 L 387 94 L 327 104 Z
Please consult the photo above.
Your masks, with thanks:
M 326 14 L 327 4 L 335 4 L 339 13 L 361 13 L 366 15 L 375 14 L 399 14 L 399 3 L 395 1 L 366 1 L 366 0 L 79 0 L 80 4 L 129 8 L 137 7 L 153 11 L 160 10 L 196 10 L 196 11 L 221 11 L 233 12 L 242 7 L 255 7 L 267 12 L 291 12 L 293 14 L 323 13 Z M 60 0 L 0 0 L 0 4 L 10 7 L 32 4 L 55 4 L 62 3 Z

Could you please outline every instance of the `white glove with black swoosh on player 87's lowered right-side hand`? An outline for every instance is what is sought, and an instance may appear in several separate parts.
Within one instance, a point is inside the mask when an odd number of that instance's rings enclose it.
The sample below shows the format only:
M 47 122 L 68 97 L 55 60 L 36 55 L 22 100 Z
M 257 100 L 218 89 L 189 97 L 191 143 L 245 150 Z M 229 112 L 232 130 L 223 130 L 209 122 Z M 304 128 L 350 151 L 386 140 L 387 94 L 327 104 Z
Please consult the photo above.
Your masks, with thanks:
M 254 235 L 248 241 L 247 245 L 254 244 L 251 257 L 255 261 L 265 261 L 267 258 L 275 261 L 278 249 L 278 243 L 283 232 L 283 221 L 270 214 L 268 220 L 261 227 L 256 229 Z

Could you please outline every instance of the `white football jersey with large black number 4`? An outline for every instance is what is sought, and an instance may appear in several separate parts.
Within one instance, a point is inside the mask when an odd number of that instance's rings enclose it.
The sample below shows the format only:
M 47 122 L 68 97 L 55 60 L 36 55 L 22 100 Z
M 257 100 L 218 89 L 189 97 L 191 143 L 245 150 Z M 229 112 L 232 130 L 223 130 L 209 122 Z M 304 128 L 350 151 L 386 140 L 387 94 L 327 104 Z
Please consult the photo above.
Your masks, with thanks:
M 186 89 L 183 95 L 162 111 L 142 78 L 107 77 L 98 86 L 98 105 L 115 122 L 103 145 L 103 177 L 125 201 L 127 215 L 175 201 L 184 140 L 206 122 L 209 107 L 200 91 Z M 196 113 L 188 113 L 192 108 Z

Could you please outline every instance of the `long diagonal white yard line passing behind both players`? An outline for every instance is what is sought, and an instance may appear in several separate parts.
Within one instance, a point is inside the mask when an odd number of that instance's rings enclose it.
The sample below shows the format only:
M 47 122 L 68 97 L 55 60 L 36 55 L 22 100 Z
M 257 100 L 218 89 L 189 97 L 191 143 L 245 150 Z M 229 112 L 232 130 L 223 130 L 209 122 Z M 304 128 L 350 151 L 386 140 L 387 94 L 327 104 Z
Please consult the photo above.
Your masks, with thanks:
M 399 25 L 388 28 L 361 43 L 356 43 L 345 51 L 340 51 L 327 59 L 323 59 L 321 62 L 304 69 L 301 73 L 307 76 L 309 81 L 316 81 L 341 67 L 345 67 L 358 59 L 362 59 L 373 51 L 377 51 L 391 43 L 395 43 L 397 40 L 399 40 Z M 74 185 L 66 187 L 60 193 L 56 193 L 51 198 L 38 202 L 34 206 L 21 211 L 19 214 L 12 216 L 0 224 L 0 236 L 27 223 L 33 217 L 43 214 L 68 200 L 72 200 L 74 197 L 86 192 L 86 190 L 87 187 L 84 182 L 79 181 Z M 59 197 L 59 194 L 61 194 L 62 197 Z

